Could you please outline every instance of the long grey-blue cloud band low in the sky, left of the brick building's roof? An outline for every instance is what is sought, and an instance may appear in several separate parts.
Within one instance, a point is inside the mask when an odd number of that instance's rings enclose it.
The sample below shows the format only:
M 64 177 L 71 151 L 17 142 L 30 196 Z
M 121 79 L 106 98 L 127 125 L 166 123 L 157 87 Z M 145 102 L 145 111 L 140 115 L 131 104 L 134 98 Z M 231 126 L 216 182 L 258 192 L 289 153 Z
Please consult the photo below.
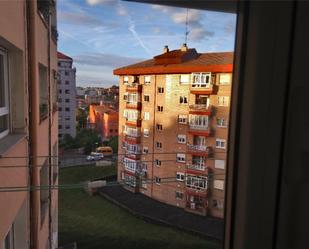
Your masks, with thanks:
M 89 53 L 74 56 L 74 62 L 82 65 L 93 65 L 93 66 L 108 66 L 117 68 L 126 66 L 129 64 L 137 63 L 143 59 L 125 57 L 115 54 L 103 54 L 103 53 Z

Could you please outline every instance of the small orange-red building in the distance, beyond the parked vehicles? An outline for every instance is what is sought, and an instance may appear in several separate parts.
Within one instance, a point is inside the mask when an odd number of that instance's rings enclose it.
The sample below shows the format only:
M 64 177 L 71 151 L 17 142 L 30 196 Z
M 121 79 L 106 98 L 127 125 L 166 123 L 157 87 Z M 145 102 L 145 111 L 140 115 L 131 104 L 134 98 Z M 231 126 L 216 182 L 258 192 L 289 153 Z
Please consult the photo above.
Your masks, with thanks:
M 89 105 L 88 125 L 96 129 L 102 140 L 118 136 L 118 110 L 113 105 Z

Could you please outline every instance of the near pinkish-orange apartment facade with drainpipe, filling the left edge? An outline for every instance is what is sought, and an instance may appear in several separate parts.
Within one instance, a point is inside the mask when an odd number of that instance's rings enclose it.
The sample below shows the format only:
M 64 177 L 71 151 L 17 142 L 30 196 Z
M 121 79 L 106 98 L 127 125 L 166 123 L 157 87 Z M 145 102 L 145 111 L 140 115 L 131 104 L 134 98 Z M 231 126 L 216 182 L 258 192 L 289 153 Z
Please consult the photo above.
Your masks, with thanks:
M 0 1 L 0 248 L 58 247 L 56 89 L 56 1 Z

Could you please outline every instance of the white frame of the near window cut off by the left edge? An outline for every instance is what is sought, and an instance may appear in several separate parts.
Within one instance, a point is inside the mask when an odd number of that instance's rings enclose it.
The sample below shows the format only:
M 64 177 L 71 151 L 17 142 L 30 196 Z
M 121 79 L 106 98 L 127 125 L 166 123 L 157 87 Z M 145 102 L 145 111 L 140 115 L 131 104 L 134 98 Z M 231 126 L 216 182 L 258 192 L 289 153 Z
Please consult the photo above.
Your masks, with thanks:
M 9 101 L 9 80 L 8 80 L 8 54 L 5 50 L 0 47 L 0 55 L 3 57 L 3 73 L 4 73 L 4 107 L 0 107 L 0 117 L 7 116 L 7 129 L 0 132 L 0 139 L 7 136 L 10 132 L 10 101 Z

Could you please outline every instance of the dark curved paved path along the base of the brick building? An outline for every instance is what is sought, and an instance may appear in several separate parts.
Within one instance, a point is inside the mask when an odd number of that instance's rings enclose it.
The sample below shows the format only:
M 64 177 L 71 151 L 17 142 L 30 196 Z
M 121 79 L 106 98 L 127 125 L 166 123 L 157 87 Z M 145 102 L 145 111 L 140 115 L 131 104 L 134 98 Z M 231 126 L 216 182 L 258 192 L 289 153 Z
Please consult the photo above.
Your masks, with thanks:
M 222 241 L 223 220 L 185 212 L 181 208 L 166 205 L 142 194 L 133 194 L 121 186 L 100 189 L 100 195 L 127 209 L 134 215 L 191 233 Z

